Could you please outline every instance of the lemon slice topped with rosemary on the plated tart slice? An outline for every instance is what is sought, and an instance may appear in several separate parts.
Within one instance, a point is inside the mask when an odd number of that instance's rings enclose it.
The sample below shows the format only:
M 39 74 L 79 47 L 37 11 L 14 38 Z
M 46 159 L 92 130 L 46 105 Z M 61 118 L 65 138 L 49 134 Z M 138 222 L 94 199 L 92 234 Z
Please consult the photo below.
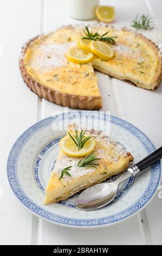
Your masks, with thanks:
M 71 133 L 71 135 L 74 137 L 74 133 Z M 66 155 L 72 157 L 82 157 L 90 154 L 95 149 L 96 142 L 94 138 L 90 138 L 87 142 L 85 142 L 83 148 L 79 150 L 72 138 L 69 135 L 66 135 L 61 139 L 59 145 L 60 149 Z

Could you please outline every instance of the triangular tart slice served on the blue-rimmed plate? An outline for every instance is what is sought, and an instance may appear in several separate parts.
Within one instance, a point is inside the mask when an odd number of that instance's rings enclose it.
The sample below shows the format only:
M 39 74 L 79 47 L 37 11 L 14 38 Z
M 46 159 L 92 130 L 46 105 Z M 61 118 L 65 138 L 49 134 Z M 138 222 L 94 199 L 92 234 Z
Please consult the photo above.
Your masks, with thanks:
M 80 129 L 76 124 L 68 126 L 70 134 L 73 134 L 76 130 L 80 132 L 85 129 Z M 91 153 L 98 159 L 91 162 L 96 163 L 95 168 L 90 162 L 88 163 L 89 166 L 82 166 L 81 164 L 79 167 L 78 162 L 82 161 L 83 163 L 87 156 L 71 157 L 60 150 L 46 187 L 45 204 L 65 200 L 84 188 L 105 181 L 110 176 L 123 172 L 133 161 L 133 156 L 129 152 L 102 131 L 85 131 L 85 137 L 90 136 L 96 143 L 94 151 Z

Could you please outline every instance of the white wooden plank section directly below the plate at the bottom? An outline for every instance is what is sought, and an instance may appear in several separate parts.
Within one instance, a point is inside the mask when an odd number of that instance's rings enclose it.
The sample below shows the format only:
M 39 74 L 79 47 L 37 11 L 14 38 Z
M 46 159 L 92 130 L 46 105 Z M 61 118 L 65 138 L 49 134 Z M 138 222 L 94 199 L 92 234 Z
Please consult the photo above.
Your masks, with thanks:
M 136 217 L 109 228 L 83 230 L 60 227 L 45 221 L 41 228 L 42 245 L 145 245 Z

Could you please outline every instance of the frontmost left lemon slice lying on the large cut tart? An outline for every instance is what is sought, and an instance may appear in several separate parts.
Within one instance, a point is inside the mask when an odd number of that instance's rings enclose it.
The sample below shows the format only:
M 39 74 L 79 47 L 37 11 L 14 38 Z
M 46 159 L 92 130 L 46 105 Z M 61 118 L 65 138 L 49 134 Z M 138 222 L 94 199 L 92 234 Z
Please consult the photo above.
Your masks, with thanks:
M 70 62 L 85 64 L 91 62 L 94 54 L 84 51 L 81 48 L 74 46 L 68 49 L 66 57 Z

